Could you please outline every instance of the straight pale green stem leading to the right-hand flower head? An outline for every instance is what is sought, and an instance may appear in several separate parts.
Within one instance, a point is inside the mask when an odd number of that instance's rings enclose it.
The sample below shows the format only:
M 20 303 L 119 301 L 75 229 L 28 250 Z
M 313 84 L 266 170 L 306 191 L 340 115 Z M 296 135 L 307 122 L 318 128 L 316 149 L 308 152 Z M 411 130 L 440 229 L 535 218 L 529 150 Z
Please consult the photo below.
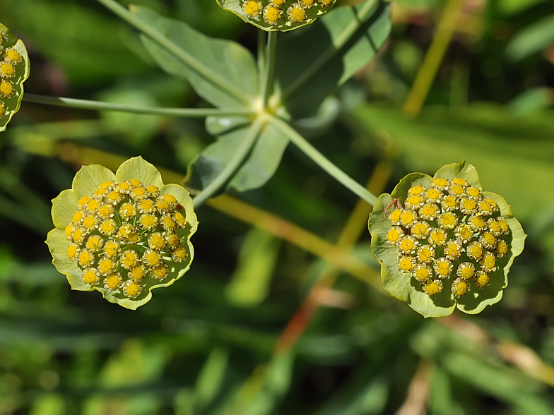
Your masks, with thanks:
M 365 200 L 367 203 L 370 203 L 370 205 L 375 205 L 375 201 L 377 200 L 377 197 L 375 195 L 370 193 L 370 191 L 368 191 L 364 186 L 358 184 L 358 182 L 351 179 L 350 176 L 345 174 L 341 169 L 331 163 L 324 155 L 322 155 L 322 153 L 317 151 L 316 148 L 308 143 L 304 137 L 300 136 L 300 134 L 297 133 L 294 128 L 285 123 L 285 121 L 278 119 L 275 116 L 269 117 L 269 122 L 273 124 L 273 126 L 279 131 L 281 131 L 281 133 L 287 136 L 289 140 L 297 146 L 297 148 L 300 148 L 300 150 L 302 150 L 305 155 L 307 155 L 308 157 L 310 157 L 310 159 L 317 163 L 319 167 L 324 169 L 327 173 L 331 174 L 331 176 L 333 176 L 337 181 L 343 184 L 343 186 L 349 188 L 355 194 L 360 196 L 360 198 L 363 198 L 363 200 Z

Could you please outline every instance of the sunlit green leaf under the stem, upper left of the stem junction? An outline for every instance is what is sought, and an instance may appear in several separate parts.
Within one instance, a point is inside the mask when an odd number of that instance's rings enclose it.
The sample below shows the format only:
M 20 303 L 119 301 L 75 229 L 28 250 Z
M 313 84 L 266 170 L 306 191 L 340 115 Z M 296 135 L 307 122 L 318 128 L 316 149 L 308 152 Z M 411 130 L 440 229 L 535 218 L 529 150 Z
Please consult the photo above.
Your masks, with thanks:
M 164 71 L 189 80 L 196 92 L 216 107 L 248 107 L 258 95 L 258 72 L 252 54 L 236 42 L 212 39 L 186 23 L 147 8 L 131 11 L 162 33 L 177 49 L 169 51 L 146 35 L 141 39 Z

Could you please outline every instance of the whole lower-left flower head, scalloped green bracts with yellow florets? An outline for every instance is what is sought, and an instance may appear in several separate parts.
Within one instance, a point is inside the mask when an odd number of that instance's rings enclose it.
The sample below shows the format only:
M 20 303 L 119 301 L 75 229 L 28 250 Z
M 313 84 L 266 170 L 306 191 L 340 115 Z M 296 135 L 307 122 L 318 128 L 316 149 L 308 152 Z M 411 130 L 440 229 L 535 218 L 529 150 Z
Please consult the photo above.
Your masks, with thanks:
M 190 237 L 198 220 L 189 193 L 163 184 L 141 157 L 115 174 L 84 166 L 71 190 L 52 200 L 52 219 L 46 243 L 71 288 L 96 289 L 132 310 L 182 277 L 194 258 Z

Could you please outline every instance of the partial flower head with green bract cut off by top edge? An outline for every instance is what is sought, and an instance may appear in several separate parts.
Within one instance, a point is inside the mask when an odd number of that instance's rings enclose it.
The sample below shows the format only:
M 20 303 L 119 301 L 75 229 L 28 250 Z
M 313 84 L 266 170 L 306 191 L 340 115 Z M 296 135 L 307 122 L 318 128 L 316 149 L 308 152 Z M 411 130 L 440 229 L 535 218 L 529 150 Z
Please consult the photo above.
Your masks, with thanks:
M 267 32 L 302 28 L 331 10 L 335 3 L 336 0 L 218 0 L 225 10 Z

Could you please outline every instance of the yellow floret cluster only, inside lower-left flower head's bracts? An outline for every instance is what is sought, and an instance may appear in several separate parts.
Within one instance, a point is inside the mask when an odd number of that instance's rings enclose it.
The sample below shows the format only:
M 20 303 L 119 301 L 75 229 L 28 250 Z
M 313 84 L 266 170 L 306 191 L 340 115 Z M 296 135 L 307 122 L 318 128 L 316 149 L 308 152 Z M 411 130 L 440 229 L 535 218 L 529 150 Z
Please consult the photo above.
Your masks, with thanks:
M 78 200 L 65 229 L 69 259 L 83 270 L 83 281 L 136 298 L 170 273 L 168 261 L 188 252 L 179 229 L 187 226 L 175 196 L 131 179 L 107 181 Z

